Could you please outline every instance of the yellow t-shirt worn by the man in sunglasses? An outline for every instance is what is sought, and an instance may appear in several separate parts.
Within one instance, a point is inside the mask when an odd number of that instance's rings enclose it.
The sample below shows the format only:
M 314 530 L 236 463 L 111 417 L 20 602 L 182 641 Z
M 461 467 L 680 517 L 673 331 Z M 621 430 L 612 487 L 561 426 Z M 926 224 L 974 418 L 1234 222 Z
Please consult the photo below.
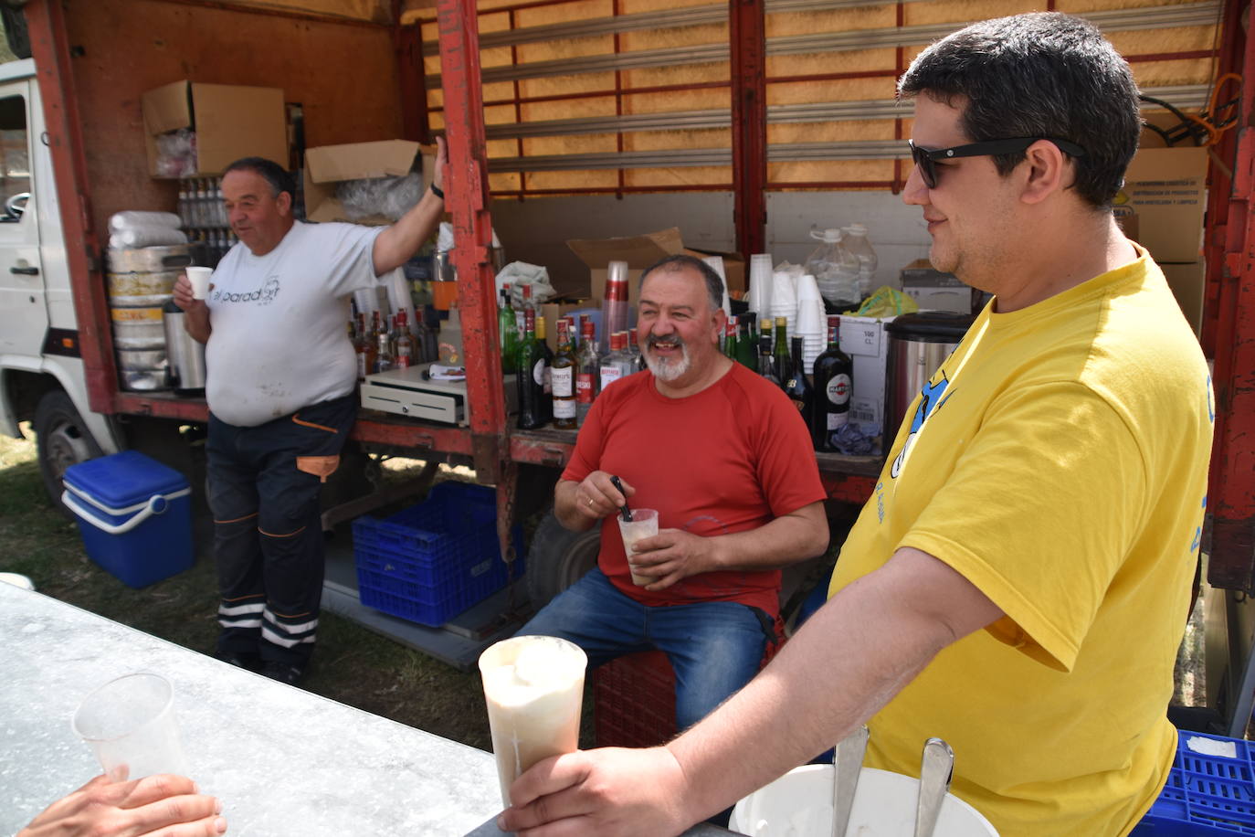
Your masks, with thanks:
M 1176 749 L 1211 381 L 1138 256 L 980 314 L 907 412 L 830 589 L 910 546 L 1003 610 L 871 720 L 867 764 L 917 776 L 946 739 L 953 792 L 1007 836 L 1127 833 Z

